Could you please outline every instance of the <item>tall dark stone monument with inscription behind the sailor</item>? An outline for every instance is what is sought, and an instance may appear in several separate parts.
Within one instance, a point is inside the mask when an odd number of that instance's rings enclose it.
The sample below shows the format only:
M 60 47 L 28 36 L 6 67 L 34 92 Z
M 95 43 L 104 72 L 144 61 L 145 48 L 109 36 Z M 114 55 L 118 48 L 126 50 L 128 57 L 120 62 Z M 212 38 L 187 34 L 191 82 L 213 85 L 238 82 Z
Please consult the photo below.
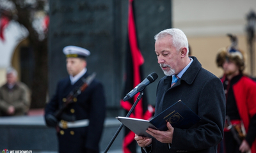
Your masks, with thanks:
M 51 0 L 49 26 L 49 96 L 58 80 L 66 77 L 63 47 L 76 45 L 92 53 L 88 71 L 104 84 L 108 116 L 120 113 L 124 88 L 125 49 L 129 0 Z M 156 71 L 163 76 L 154 52 L 154 35 L 172 27 L 170 0 L 134 0 L 138 44 L 145 59 L 144 76 Z M 144 78 L 143 78 L 144 79 Z M 158 81 L 158 80 L 157 80 Z M 156 83 L 147 87 L 149 103 L 154 105 Z

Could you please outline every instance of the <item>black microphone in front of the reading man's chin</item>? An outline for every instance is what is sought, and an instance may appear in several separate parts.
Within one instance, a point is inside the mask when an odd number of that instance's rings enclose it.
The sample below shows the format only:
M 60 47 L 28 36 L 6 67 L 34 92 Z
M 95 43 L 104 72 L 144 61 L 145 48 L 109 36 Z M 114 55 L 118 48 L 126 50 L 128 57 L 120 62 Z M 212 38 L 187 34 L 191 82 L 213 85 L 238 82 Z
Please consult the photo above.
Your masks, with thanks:
M 148 77 L 145 78 L 143 80 L 143 82 L 141 82 L 136 87 L 134 87 L 134 89 L 132 89 L 132 91 L 130 91 L 125 96 L 124 101 L 127 101 L 128 99 L 131 99 L 135 94 L 137 94 L 138 92 L 143 91 L 147 85 L 149 85 L 152 82 L 154 82 L 157 78 L 158 78 L 158 75 L 156 74 L 156 72 L 150 73 L 150 75 L 148 75 Z

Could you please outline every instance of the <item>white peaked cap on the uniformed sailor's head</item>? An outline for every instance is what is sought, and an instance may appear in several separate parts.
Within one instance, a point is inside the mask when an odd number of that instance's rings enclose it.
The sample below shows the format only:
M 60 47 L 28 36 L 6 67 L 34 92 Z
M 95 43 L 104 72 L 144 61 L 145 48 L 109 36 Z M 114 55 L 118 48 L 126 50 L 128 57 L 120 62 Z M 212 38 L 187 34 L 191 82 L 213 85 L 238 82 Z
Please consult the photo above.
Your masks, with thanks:
M 88 57 L 91 52 L 82 47 L 67 46 L 63 48 L 63 53 L 66 57 Z

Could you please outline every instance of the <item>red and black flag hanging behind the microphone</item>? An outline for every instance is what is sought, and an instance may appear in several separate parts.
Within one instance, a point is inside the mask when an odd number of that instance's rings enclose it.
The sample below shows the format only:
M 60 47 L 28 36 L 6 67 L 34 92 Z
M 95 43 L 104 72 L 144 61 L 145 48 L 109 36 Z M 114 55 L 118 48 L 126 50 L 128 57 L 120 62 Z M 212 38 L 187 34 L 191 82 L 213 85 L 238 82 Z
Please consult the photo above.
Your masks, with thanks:
M 138 40 L 136 35 L 136 24 L 134 20 L 134 0 L 129 0 L 129 10 L 128 10 L 128 45 L 126 51 L 126 72 L 125 72 L 125 89 L 123 98 L 128 92 L 130 92 L 136 85 L 140 84 L 143 79 L 142 65 L 144 63 L 143 56 L 138 47 Z M 133 103 L 136 101 L 140 93 L 136 94 L 133 98 L 128 101 L 121 100 L 121 106 L 129 112 Z M 147 103 L 147 94 L 144 92 L 143 97 L 138 102 L 134 111 L 131 113 L 130 117 L 138 119 L 150 119 L 154 108 Z M 134 140 L 135 134 L 129 129 L 125 128 L 125 137 L 123 142 L 124 153 L 134 153 L 136 152 L 137 143 Z

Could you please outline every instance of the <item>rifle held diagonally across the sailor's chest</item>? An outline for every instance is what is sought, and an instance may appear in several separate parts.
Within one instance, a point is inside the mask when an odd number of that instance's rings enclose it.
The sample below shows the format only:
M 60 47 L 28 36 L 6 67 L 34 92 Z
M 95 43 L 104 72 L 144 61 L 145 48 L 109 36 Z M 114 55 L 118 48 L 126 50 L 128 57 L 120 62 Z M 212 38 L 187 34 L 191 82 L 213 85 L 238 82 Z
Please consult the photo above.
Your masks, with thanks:
M 88 76 L 87 78 L 82 78 L 83 84 L 77 86 L 73 91 L 68 94 L 60 110 L 58 110 L 54 115 L 57 120 L 61 119 L 61 115 L 63 114 L 63 112 L 65 112 L 65 110 L 67 110 L 68 106 L 71 103 L 75 103 L 77 101 L 77 96 L 81 94 L 92 83 L 95 76 L 96 73 L 92 73 L 92 75 Z

